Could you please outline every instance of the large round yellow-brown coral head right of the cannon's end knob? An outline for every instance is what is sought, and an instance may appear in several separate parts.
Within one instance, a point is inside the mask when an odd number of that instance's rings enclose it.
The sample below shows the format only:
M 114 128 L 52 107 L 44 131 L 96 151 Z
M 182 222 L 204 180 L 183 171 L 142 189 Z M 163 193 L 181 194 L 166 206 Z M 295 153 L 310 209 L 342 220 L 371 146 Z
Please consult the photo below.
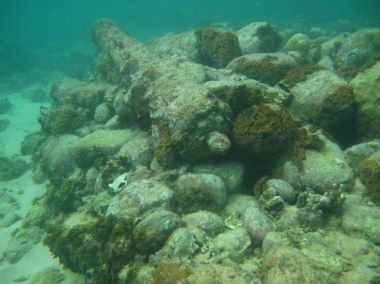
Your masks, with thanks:
M 278 105 L 254 105 L 240 112 L 232 131 L 238 150 L 271 159 L 292 146 L 297 127 Z

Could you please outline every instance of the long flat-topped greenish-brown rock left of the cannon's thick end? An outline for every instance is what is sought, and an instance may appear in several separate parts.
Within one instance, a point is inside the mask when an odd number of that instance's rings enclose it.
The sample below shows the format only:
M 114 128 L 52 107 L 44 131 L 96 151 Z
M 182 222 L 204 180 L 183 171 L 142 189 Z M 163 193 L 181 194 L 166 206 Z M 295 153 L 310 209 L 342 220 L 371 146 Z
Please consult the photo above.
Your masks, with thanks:
M 95 159 L 117 154 L 122 145 L 136 134 L 133 130 L 98 130 L 76 141 L 74 154 L 81 168 L 93 165 Z

